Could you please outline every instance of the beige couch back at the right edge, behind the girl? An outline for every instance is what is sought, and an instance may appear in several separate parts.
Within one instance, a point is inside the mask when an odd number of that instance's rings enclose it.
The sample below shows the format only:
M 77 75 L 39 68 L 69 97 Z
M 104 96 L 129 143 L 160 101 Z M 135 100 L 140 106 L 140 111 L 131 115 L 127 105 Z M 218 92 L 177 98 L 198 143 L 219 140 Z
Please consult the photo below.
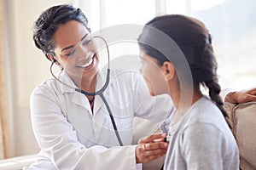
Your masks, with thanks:
M 241 170 L 256 169 L 256 102 L 234 105 L 225 103 L 232 131 L 240 151 Z

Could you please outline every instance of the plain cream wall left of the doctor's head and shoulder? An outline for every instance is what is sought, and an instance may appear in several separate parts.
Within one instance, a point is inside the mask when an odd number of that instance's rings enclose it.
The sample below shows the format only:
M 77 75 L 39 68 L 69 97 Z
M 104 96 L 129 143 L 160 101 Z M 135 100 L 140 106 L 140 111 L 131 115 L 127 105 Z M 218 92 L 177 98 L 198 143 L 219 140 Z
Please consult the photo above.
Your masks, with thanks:
M 32 25 L 41 11 L 58 3 L 75 1 L 3 0 L 4 54 L 7 74 L 10 156 L 35 154 L 29 97 L 49 75 L 49 61 L 32 41 Z

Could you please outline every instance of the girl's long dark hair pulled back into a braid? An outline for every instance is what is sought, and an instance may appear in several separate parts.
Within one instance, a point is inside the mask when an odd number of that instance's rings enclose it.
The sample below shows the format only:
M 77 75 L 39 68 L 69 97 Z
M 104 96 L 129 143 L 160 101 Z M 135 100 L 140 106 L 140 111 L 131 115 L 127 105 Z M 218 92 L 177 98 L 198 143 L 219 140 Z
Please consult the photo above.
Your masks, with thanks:
M 176 42 L 189 63 L 195 89 L 200 91 L 200 85 L 207 86 L 210 98 L 227 120 L 228 116 L 224 111 L 223 101 L 219 96 L 221 88 L 218 84 L 216 73 L 217 61 L 213 54 L 212 37 L 204 24 L 192 17 L 180 14 L 162 15 L 150 20 L 144 26 L 140 37 L 138 37 L 138 43 L 146 54 L 157 59 L 159 65 L 162 65 L 169 59 L 164 54 L 161 54 L 158 49 L 149 46 L 144 41 L 144 37 L 150 37 L 148 31 L 146 31 L 148 27 L 162 31 Z M 173 54 L 170 55 L 172 58 Z

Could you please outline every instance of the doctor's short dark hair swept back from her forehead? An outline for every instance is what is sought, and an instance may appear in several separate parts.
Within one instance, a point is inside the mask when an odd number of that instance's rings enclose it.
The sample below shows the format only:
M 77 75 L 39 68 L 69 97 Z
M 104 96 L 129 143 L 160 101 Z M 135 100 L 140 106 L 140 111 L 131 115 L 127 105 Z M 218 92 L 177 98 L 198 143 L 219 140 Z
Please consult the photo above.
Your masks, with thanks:
M 58 26 L 65 24 L 70 20 L 79 21 L 88 29 L 88 31 L 90 31 L 88 20 L 82 10 L 80 8 L 74 8 L 70 4 L 58 5 L 46 9 L 34 23 L 33 40 L 46 57 L 47 54 L 55 55 L 53 52 L 55 48 L 53 36 L 55 31 L 57 31 Z

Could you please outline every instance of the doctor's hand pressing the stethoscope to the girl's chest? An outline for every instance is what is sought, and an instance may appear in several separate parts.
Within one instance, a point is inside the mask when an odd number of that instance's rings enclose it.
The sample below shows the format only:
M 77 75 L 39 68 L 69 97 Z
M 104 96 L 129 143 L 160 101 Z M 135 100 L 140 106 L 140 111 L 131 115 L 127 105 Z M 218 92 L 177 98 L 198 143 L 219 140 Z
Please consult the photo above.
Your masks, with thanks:
M 136 162 L 145 163 L 165 156 L 168 143 L 164 142 L 165 133 L 156 133 L 139 139 L 135 150 Z

